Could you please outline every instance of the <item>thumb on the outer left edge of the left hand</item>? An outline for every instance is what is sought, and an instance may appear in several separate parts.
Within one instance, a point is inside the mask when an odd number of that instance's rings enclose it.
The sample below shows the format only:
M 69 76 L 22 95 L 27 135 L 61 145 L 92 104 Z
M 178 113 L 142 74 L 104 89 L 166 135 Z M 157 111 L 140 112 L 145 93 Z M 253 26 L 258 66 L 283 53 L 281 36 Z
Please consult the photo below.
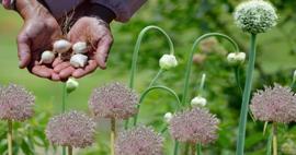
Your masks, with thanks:
M 19 56 L 19 67 L 21 69 L 27 67 L 31 61 L 31 50 L 30 50 L 30 39 L 24 34 L 20 34 L 18 36 L 18 56 Z

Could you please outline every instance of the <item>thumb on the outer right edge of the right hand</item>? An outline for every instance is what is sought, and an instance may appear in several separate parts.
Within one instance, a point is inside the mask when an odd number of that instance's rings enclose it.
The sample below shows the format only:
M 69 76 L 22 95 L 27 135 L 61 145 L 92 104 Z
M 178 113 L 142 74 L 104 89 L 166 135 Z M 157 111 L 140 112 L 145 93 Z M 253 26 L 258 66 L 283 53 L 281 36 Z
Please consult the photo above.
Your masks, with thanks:
M 105 36 L 98 43 L 98 48 L 95 52 L 95 61 L 101 69 L 106 68 L 106 60 L 109 56 L 110 48 L 113 44 L 113 38 L 111 36 Z

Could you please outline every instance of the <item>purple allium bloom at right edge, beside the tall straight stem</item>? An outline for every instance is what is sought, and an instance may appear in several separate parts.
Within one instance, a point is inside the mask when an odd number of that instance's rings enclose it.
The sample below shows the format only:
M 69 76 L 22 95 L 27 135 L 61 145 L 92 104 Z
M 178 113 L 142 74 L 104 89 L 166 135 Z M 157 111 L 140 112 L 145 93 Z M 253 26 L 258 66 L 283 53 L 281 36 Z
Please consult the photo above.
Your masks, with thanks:
M 255 119 L 288 123 L 296 121 L 296 95 L 289 87 L 274 84 L 258 91 L 251 100 L 251 111 Z

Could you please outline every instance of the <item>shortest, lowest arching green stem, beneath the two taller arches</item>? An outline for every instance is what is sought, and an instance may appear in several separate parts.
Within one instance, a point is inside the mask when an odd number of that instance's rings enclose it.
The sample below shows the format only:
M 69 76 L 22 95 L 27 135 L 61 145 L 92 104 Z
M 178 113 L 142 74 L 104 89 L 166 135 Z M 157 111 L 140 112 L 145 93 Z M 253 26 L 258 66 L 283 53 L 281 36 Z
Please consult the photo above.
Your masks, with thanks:
M 178 102 L 177 109 L 180 109 L 181 108 L 181 102 L 180 102 L 177 93 L 173 90 L 171 90 L 169 87 L 166 87 L 166 86 L 152 86 L 152 87 L 147 88 L 140 95 L 139 105 L 138 105 L 138 109 L 139 109 L 138 114 L 140 112 L 140 105 L 144 102 L 145 97 L 149 94 L 149 92 L 155 91 L 155 90 L 162 90 L 162 91 L 166 91 L 166 92 L 170 93 L 172 96 L 174 96 L 175 100 Z M 135 117 L 134 117 L 134 127 L 137 126 L 138 114 L 135 115 Z

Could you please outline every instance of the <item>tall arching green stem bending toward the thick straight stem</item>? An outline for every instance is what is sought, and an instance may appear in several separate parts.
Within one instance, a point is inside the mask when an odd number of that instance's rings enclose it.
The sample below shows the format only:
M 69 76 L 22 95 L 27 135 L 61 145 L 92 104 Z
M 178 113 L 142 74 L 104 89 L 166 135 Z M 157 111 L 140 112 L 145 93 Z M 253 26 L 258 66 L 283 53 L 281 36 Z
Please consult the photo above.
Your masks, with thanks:
M 239 52 L 239 47 L 236 44 L 236 41 L 234 39 L 231 39 L 229 36 L 224 35 L 224 34 L 219 34 L 219 33 L 209 33 L 209 34 L 205 34 L 201 37 L 198 37 L 191 49 L 191 52 L 189 53 L 189 60 L 187 60 L 187 64 L 186 64 L 186 70 L 185 70 L 185 81 L 184 81 L 184 87 L 183 87 L 183 97 L 182 97 L 182 106 L 185 106 L 185 104 L 187 103 L 187 92 L 189 92 L 189 83 L 190 83 L 190 75 L 191 75 L 191 68 L 192 68 L 192 62 L 193 62 L 193 55 L 194 51 L 197 50 L 197 45 L 205 38 L 212 37 L 212 36 L 217 36 L 217 37 L 223 37 L 227 40 L 229 40 L 231 43 L 231 45 L 235 48 L 236 52 Z

